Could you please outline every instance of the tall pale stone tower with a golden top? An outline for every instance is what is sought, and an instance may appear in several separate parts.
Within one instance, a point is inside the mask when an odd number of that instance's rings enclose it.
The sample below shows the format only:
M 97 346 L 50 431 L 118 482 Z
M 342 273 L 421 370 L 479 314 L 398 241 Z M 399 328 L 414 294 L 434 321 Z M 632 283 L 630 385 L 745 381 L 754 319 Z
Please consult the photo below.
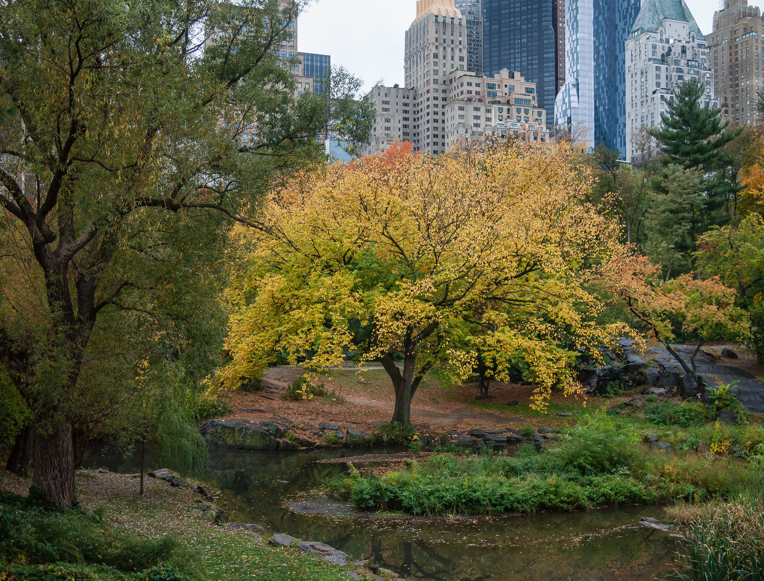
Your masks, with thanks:
M 443 138 L 435 140 L 432 137 L 435 131 L 430 131 L 428 141 L 426 130 L 435 126 L 435 118 L 438 127 L 444 127 L 440 121 L 448 104 L 448 74 L 467 68 L 465 26 L 454 0 L 417 0 L 416 18 L 406 31 L 404 48 L 406 89 L 416 97 L 412 103 L 411 127 L 411 142 L 416 151 L 440 153 L 445 150 Z M 437 134 L 444 132 L 445 129 L 439 129 Z

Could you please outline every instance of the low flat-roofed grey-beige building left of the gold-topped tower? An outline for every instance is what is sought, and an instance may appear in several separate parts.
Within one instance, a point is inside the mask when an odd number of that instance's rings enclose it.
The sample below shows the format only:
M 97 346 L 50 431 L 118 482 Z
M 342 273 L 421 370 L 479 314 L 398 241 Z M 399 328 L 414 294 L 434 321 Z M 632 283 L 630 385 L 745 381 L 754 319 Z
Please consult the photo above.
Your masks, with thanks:
M 411 140 L 411 106 L 416 92 L 403 87 L 376 86 L 364 95 L 377 108 L 371 141 L 361 146 L 361 155 L 375 155 L 390 149 L 394 140 Z

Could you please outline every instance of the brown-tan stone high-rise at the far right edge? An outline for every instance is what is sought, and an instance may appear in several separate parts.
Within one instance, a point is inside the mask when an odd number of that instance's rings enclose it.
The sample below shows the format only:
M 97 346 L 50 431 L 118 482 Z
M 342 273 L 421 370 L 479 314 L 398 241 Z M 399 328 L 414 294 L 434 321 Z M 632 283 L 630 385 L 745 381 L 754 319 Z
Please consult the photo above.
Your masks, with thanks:
M 759 69 L 759 58 L 764 57 L 761 11 L 747 0 L 725 0 L 724 8 L 714 13 L 713 30 L 707 66 L 714 71 L 714 94 L 724 107 L 723 119 L 730 127 L 755 125 L 756 102 L 764 91 L 759 89 L 764 85 Z

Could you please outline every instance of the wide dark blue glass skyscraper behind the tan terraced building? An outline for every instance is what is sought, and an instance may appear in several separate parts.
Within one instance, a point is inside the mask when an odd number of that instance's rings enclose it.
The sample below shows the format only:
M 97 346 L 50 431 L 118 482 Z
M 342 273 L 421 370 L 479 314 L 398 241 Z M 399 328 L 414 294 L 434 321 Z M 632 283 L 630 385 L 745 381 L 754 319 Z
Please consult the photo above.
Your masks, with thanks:
M 536 83 L 547 122 L 562 80 L 562 0 L 483 0 L 483 74 L 520 71 Z

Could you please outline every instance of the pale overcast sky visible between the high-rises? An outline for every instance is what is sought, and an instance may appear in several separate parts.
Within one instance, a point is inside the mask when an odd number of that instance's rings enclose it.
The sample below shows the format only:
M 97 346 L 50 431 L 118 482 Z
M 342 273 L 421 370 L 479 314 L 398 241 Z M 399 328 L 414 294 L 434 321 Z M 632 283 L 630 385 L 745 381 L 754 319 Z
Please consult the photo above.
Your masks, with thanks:
M 701 31 L 711 33 L 719 0 L 686 2 Z M 416 0 L 313 0 L 299 18 L 299 50 L 329 54 L 333 66 L 363 79 L 364 92 L 380 79 L 403 85 L 403 35 L 415 16 Z

